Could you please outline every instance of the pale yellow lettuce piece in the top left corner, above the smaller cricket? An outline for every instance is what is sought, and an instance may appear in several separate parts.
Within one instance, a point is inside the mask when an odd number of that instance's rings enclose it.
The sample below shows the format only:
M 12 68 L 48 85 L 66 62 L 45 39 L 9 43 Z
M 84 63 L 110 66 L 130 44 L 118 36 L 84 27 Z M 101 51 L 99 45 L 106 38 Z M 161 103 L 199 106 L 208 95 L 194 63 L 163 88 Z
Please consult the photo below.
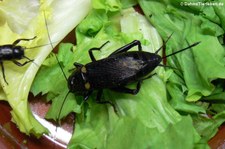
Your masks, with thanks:
M 7 23 L 17 34 L 26 31 L 27 26 L 38 15 L 40 7 L 40 3 L 35 0 L 7 0 L 0 4 L 0 25 Z

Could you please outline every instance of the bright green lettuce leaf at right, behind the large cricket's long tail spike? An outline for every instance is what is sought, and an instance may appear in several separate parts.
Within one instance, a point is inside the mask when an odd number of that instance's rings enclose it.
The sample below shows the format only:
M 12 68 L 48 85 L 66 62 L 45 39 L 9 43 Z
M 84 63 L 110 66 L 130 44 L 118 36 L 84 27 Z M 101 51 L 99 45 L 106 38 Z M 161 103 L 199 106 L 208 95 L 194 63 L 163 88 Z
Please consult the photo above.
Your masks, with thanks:
M 201 15 L 194 16 L 193 13 L 181 10 L 181 7 L 175 9 L 166 2 L 140 0 L 139 3 L 146 16 L 151 15 L 148 18 L 163 39 L 176 29 L 167 43 L 167 53 L 201 41 L 192 51 L 176 55 L 176 61 L 168 58 L 168 63 L 183 71 L 187 101 L 197 101 L 202 96 L 210 95 L 215 89 L 211 81 L 225 78 L 225 51 L 217 39 L 224 30 Z

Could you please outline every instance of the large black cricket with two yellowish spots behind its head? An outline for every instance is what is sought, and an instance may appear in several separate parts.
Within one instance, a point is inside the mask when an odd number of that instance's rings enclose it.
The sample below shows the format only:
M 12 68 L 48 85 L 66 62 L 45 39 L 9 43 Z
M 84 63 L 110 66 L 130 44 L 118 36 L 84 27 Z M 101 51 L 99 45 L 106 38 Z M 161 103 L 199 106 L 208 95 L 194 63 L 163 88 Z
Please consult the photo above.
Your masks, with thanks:
M 107 43 L 108 42 L 105 44 Z M 141 88 L 141 82 L 154 75 L 150 73 L 157 66 L 164 66 L 160 64 L 163 59 L 194 47 L 199 43 L 200 42 L 196 42 L 184 49 L 161 57 L 157 53 L 163 46 L 155 53 L 145 52 L 142 51 L 140 41 L 134 40 L 133 42 L 117 49 L 107 58 L 100 60 L 95 59 L 93 51 L 100 51 L 105 44 L 99 48 L 92 48 L 88 51 L 92 62 L 85 65 L 76 62 L 74 63 L 76 70 L 67 80 L 69 88 L 68 94 L 70 92 L 80 94 L 84 96 L 84 101 L 87 101 L 92 92 L 97 91 L 96 102 L 100 104 L 111 104 L 115 110 L 114 105 L 110 101 L 101 101 L 103 89 L 110 89 L 117 92 L 135 95 Z M 129 51 L 134 46 L 138 46 L 138 51 Z M 137 82 L 136 88 L 127 88 L 126 85 L 132 82 Z

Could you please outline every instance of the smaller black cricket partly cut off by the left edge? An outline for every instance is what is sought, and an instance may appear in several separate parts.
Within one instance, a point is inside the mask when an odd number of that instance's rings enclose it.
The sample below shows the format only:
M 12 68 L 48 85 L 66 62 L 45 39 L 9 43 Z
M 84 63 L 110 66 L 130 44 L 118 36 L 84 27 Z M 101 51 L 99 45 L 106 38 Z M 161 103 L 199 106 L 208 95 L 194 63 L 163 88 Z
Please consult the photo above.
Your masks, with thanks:
M 4 61 L 12 61 L 17 66 L 24 66 L 27 63 L 32 62 L 33 60 L 29 59 L 28 57 L 26 57 L 24 55 L 24 49 L 27 49 L 27 48 L 19 46 L 17 44 L 20 41 L 29 41 L 29 40 L 33 40 L 35 38 L 36 38 L 36 36 L 33 38 L 30 38 L 30 39 L 22 38 L 22 39 L 17 39 L 12 44 L 0 45 L 0 65 L 2 68 L 2 74 L 3 74 L 4 81 L 7 85 L 8 85 L 8 82 L 6 81 L 6 78 L 5 78 L 3 62 Z M 21 60 L 23 58 L 27 59 L 27 61 L 25 61 L 24 63 L 20 63 L 17 61 L 17 60 Z

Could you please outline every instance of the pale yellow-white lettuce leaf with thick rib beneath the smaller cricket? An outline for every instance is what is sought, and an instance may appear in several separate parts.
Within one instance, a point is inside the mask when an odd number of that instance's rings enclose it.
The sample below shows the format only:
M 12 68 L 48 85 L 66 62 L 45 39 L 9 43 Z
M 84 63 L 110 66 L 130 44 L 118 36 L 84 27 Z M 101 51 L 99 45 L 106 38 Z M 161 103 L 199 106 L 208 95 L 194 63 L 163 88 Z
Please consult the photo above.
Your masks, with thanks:
M 32 41 L 19 43 L 19 45 L 27 48 L 49 44 L 44 12 L 49 34 L 55 46 L 85 17 L 91 7 L 89 0 L 79 2 L 76 0 L 69 2 L 21 0 L 17 2 L 17 5 L 15 5 L 15 1 L 10 0 L 1 1 L 0 3 L 0 44 L 11 44 L 19 38 L 37 36 Z M 72 5 L 73 8 L 68 7 Z M 76 13 L 76 17 L 71 15 L 73 13 Z M 66 25 L 62 21 L 65 18 L 69 20 Z M 26 49 L 25 55 L 33 59 L 34 62 L 24 67 L 18 67 L 10 61 L 3 62 L 6 80 L 9 83 L 8 85 L 5 83 L 1 73 L 0 82 L 6 96 L 5 100 L 12 107 L 13 121 L 22 132 L 28 135 L 33 133 L 39 137 L 47 132 L 46 128 L 34 118 L 28 106 L 27 98 L 38 68 L 51 51 L 50 45 Z

